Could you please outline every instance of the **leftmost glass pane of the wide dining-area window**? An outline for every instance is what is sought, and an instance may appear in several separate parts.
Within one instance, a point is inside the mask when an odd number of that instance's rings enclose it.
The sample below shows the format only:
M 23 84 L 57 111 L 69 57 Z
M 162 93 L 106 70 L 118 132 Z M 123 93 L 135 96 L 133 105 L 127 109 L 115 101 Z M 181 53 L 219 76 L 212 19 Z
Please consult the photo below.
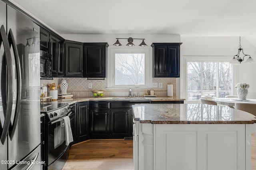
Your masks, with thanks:
M 201 96 L 201 62 L 188 62 L 188 100 Z

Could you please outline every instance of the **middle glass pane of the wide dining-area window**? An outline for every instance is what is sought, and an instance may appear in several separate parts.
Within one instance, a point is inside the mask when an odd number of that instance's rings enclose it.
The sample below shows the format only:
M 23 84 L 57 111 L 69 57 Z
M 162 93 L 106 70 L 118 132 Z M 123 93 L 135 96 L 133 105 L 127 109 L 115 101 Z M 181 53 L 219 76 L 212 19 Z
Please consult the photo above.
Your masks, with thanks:
M 202 95 L 216 96 L 216 74 L 217 74 L 217 63 L 215 62 L 204 62 L 203 63 L 203 92 Z

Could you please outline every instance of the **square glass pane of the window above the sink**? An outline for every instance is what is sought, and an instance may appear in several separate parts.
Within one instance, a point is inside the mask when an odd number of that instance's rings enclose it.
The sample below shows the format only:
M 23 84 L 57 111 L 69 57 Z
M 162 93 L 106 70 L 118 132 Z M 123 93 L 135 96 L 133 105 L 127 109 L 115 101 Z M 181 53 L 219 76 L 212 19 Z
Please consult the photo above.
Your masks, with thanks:
M 145 54 L 115 55 L 115 85 L 145 85 Z

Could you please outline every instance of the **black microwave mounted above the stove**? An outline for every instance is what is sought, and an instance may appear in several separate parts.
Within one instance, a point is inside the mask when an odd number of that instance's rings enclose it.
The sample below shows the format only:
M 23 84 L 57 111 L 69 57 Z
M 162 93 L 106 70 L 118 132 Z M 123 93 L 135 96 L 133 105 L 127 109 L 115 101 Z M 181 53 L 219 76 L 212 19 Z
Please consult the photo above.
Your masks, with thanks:
M 40 50 L 40 79 L 52 80 L 52 55 Z

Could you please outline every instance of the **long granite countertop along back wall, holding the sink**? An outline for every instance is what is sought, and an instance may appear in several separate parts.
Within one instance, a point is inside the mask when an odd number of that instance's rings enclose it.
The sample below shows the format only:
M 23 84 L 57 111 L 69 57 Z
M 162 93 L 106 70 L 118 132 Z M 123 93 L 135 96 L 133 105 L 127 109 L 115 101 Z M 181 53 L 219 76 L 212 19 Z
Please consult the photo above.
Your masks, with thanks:
M 127 97 L 127 96 L 119 96 L 119 97 L 88 97 L 88 98 L 80 98 L 76 97 L 72 100 L 66 101 L 56 101 L 58 103 L 68 103 L 74 104 L 77 102 L 87 102 L 87 101 L 180 101 L 185 100 L 179 97 Z

